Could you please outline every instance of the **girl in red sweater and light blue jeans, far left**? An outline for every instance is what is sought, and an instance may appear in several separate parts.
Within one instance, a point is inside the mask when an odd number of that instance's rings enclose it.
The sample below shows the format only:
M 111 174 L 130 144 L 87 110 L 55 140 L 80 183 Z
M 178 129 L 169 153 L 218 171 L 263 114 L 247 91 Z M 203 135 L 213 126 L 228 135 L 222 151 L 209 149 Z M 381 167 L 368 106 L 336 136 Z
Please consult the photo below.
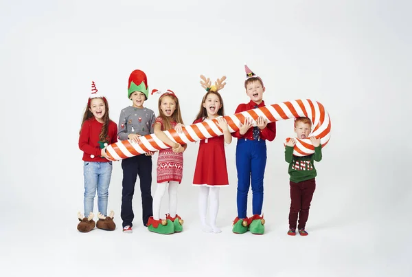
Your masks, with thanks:
M 108 117 L 106 98 L 98 93 L 94 82 L 91 87 L 92 93 L 80 129 L 79 148 L 83 151 L 84 161 L 84 215 L 93 218 L 96 191 L 99 213 L 104 217 L 107 215 L 112 162 L 107 159 L 105 148 L 108 144 L 117 142 L 117 124 Z M 92 221 L 89 221 L 90 224 L 94 224 Z

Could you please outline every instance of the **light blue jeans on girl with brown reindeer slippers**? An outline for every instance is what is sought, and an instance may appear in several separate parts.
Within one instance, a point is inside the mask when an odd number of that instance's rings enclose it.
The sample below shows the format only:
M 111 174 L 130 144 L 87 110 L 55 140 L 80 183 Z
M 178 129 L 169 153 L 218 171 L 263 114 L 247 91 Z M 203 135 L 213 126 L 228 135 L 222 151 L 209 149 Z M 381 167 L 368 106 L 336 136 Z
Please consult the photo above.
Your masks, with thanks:
M 112 162 L 84 162 L 84 217 L 93 212 L 96 190 L 99 212 L 107 215 L 108 185 L 112 168 Z

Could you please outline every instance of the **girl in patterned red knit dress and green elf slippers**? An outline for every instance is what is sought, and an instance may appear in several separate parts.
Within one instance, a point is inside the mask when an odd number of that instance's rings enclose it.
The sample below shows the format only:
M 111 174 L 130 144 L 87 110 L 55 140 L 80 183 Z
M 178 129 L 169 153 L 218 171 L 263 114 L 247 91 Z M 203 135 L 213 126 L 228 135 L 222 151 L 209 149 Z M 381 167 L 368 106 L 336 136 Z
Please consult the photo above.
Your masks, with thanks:
M 155 135 L 159 140 L 172 147 L 162 149 L 157 157 L 157 189 L 153 197 L 153 217 L 150 217 L 148 220 L 148 230 L 159 234 L 172 234 L 183 230 L 183 220 L 176 214 L 177 186 L 182 181 L 183 152 L 187 145 L 182 146 L 172 142 L 163 133 L 163 131 L 170 129 L 176 129 L 179 133 L 182 132 L 183 120 L 179 100 L 174 92 L 168 90 L 163 93 L 159 98 L 158 106 L 159 116 L 155 121 Z M 161 199 L 167 187 L 169 188 L 169 214 L 166 219 L 161 220 Z

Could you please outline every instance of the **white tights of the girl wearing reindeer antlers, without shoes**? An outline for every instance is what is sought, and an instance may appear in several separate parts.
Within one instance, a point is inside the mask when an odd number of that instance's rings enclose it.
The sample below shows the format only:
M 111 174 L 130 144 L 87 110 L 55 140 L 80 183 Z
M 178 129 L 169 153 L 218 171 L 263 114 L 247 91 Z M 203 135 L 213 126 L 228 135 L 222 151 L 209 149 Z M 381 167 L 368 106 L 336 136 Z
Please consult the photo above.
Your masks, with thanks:
M 201 216 L 202 230 L 204 232 L 220 233 L 222 231 L 216 226 L 216 217 L 218 217 L 219 210 L 219 188 L 201 186 L 200 189 L 199 213 Z M 207 197 L 209 197 L 210 225 L 206 222 Z

